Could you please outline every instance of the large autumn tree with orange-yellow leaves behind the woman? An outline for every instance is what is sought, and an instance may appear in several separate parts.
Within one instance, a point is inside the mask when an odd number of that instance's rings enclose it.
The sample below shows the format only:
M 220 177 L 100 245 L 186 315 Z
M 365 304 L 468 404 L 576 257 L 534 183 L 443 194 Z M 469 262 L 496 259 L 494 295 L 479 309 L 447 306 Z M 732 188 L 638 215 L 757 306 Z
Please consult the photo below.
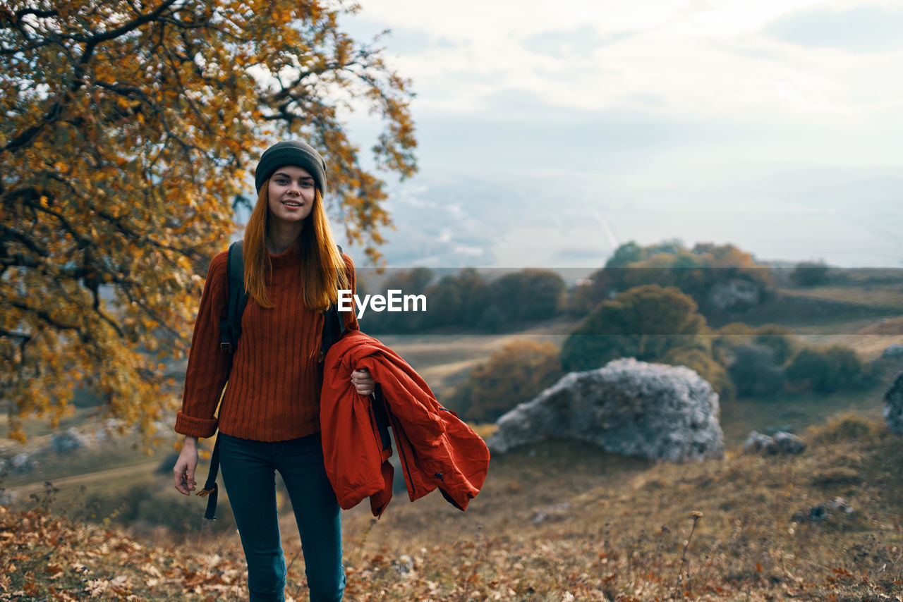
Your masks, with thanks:
M 377 167 L 415 170 L 409 82 L 321 0 L 0 2 L 0 386 L 58 420 L 79 385 L 145 433 L 183 353 L 233 202 L 278 139 L 327 159 L 327 202 L 378 259 L 384 181 L 343 116 L 385 129 Z

